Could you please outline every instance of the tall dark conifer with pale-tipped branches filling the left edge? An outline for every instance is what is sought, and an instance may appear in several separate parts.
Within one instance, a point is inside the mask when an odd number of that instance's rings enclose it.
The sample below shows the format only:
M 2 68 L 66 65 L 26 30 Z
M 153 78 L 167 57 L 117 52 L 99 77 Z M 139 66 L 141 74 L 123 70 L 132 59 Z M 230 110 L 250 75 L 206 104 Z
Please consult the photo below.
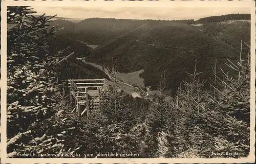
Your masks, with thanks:
M 18 152 L 36 153 L 33 157 L 65 152 L 59 138 L 63 134 L 58 134 L 65 128 L 56 128 L 63 118 L 56 104 L 57 74 L 52 71 L 47 40 L 55 27 L 47 31 L 52 16 L 35 17 L 32 13 L 26 6 L 7 8 L 7 23 L 13 24 L 7 29 L 8 157 L 17 157 Z

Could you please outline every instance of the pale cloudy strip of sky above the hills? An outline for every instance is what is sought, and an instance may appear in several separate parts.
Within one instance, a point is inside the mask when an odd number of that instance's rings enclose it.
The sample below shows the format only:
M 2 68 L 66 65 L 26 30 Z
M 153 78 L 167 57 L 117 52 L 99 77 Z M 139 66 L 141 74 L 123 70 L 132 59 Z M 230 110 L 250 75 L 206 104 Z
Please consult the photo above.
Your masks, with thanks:
M 32 7 L 37 14 L 55 15 L 67 18 L 117 18 L 117 19 L 199 19 L 207 16 L 224 15 L 232 13 L 250 13 L 245 7 Z

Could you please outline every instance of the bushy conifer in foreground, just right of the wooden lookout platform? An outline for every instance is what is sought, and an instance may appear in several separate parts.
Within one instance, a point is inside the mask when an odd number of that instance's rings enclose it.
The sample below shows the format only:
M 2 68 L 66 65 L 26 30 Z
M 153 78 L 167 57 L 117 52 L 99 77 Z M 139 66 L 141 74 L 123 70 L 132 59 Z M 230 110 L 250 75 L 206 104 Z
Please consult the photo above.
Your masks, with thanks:
M 87 153 L 136 152 L 137 135 L 130 133 L 135 123 L 131 101 L 123 91 L 115 93 L 115 87 L 102 93 L 99 110 L 90 114 L 83 127 Z

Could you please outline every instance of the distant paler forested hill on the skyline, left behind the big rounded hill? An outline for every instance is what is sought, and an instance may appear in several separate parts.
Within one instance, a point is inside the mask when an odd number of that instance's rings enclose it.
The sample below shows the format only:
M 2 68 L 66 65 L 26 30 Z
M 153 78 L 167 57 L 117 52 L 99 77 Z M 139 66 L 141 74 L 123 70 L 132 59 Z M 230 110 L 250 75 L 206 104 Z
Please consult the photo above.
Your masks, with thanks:
M 177 21 L 182 24 L 183 21 Z M 114 18 L 89 18 L 80 21 L 78 24 L 67 20 L 54 20 L 50 27 L 59 25 L 64 30 L 59 33 L 77 38 L 88 44 L 101 45 L 124 33 L 130 32 L 142 25 L 171 26 L 172 21 L 167 20 L 134 20 L 134 19 L 114 19 Z M 68 32 L 67 32 L 67 31 Z

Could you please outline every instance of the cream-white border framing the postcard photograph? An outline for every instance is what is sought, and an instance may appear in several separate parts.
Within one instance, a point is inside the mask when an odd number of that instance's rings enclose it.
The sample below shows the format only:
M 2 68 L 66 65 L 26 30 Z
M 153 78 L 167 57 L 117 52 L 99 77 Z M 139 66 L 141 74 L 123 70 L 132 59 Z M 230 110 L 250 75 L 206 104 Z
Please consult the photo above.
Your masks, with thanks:
M 7 158 L 6 151 L 6 13 L 7 6 L 248 7 L 251 9 L 250 154 L 247 158 Z M 1 160 L 2 163 L 254 163 L 255 143 L 255 2 L 254 1 L 1 1 Z

